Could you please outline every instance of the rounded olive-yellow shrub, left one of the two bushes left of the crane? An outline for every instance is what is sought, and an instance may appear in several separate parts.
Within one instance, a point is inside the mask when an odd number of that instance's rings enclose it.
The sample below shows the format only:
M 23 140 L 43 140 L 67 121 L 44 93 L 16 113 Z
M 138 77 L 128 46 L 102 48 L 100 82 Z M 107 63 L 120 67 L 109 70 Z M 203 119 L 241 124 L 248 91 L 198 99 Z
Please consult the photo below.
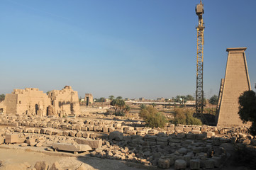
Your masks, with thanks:
M 146 126 L 150 128 L 164 128 L 165 124 L 167 123 L 167 119 L 165 115 L 162 113 L 157 112 L 153 106 L 147 106 L 141 109 L 140 118 L 145 120 Z

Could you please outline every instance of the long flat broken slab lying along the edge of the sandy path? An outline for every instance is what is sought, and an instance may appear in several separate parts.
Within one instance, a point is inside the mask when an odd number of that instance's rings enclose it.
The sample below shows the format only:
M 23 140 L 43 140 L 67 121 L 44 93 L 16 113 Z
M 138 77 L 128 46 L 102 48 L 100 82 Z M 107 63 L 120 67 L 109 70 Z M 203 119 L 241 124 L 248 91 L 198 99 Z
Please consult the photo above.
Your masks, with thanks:
M 89 145 L 82 144 L 65 144 L 65 143 L 54 143 L 52 148 L 55 150 L 69 151 L 69 152 L 86 152 L 92 150 Z

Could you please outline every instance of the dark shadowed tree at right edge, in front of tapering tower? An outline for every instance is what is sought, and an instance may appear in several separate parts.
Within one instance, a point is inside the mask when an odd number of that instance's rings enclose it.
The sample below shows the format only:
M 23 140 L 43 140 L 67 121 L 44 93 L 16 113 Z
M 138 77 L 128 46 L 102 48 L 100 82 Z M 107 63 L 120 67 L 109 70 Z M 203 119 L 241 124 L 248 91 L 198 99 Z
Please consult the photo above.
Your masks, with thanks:
M 256 84 L 255 84 L 256 89 Z M 238 115 L 243 123 L 252 122 L 250 133 L 256 135 L 256 94 L 255 91 L 245 91 L 238 99 Z

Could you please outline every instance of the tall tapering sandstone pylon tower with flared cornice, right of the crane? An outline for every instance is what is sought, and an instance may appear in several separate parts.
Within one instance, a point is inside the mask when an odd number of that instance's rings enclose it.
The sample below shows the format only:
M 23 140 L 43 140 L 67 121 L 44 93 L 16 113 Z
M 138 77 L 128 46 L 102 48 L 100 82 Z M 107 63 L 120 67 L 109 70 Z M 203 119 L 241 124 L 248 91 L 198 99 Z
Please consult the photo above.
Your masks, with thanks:
M 217 125 L 245 125 L 238 115 L 238 98 L 251 89 L 245 57 L 246 47 L 228 48 L 225 78 L 221 79 L 216 111 Z

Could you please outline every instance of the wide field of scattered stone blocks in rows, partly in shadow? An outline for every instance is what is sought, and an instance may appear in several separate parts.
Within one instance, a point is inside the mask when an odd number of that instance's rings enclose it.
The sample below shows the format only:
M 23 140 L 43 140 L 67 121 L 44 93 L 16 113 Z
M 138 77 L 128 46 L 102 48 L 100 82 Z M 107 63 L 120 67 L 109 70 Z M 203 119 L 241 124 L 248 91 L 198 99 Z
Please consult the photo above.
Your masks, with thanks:
M 227 159 L 226 150 L 220 147 L 223 143 L 256 145 L 255 137 L 247 135 L 247 128 L 235 127 L 169 124 L 164 129 L 152 129 L 128 121 L 28 115 L 0 115 L 0 124 L 10 125 L 1 129 L 0 145 L 13 137 L 13 141 L 16 139 L 13 143 L 21 147 L 45 147 L 48 152 L 52 148 L 75 154 L 87 152 L 91 157 L 162 169 L 216 169 Z

